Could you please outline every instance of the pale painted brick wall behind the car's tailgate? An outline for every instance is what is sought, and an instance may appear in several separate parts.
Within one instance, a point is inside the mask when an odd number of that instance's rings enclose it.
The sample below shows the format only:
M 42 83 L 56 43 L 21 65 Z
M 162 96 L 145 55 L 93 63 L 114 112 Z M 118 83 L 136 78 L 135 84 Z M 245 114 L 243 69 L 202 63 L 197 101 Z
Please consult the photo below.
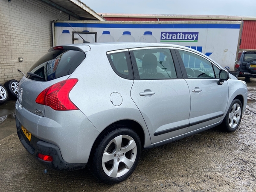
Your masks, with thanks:
M 52 47 L 52 21 L 69 15 L 41 0 L 0 0 L 0 83 L 23 73 Z M 70 20 L 78 20 L 70 16 Z M 23 62 L 18 58 L 22 57 Z

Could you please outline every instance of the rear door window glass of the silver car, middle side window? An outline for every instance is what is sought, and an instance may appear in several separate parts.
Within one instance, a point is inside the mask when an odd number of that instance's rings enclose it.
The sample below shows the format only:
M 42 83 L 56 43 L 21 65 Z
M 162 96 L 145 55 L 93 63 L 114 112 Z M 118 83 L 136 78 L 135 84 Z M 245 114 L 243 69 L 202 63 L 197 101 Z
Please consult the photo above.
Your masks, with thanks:
M 140 49 L 132 52 L 140 79 L 177 78 L 170 49 Z

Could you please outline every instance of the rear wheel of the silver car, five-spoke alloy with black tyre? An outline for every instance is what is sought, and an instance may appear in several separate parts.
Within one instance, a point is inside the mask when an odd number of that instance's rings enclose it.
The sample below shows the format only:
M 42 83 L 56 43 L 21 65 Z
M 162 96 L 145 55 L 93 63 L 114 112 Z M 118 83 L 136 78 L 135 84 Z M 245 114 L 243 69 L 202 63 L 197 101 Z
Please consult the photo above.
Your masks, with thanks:
M 90 171 L 103 183 L 119 183 L 134 172 L 140 154 L 137 133 L 129 128 L 117 128 L 99 138 Z

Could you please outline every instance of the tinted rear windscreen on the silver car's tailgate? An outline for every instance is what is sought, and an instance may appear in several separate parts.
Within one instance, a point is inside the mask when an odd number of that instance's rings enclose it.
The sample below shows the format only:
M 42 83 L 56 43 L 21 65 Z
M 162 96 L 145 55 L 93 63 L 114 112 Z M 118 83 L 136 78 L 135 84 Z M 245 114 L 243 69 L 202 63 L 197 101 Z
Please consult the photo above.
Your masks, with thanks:
M 70 75 L 84 60 L 81 51 L 58 50 L 51 51 L 40 58 L 26 74 L 26 78 L 35 81 L 50 81 Z

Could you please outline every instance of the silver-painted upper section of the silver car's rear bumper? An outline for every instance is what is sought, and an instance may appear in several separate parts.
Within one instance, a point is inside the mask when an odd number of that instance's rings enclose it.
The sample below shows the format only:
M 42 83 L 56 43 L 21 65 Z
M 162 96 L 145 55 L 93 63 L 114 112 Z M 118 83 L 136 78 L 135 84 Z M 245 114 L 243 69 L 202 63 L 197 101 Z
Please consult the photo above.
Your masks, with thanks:
M 54 111 L 46 106 L 44 116 L 39 116 L 26 110 L 18 101 L 15 108 L 17 128 L 23 125 L 32 134 L 32 138 L 37 138 L 35 140 L 57 146 L 61 151 L 60 159 L 64 162 L 70 164 L 88 162 L 99 131 L 80 110 Z M 34 143 L 33 140 L 29 142 L 30 145 Z M 24 141 L 21 142 L 24 144 Z M 36 143 L 37 141 L 30 146 L 34 150 L 38 145 Z M 29 150 L 29 146 L 25 145 L 25 148 Z

